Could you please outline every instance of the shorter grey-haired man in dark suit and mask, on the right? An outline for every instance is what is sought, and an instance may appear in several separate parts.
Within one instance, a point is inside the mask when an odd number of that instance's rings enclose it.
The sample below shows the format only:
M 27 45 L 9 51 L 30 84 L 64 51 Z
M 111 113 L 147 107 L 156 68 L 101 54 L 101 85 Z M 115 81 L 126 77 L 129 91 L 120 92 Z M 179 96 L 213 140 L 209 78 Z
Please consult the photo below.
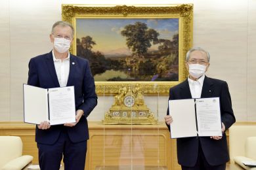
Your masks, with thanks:
M 182 169 L 225 169 L 229 160 L 225 131 L 236 119 L 232 110 L 228 84 L 223 80 L 205 76 L 209 67 L 209 53 L 202 48 L 191 48 L 186 54 L 188 79 L 174 86 L 169 91 L 169 100 L 219 97 L 223 136 L 184 137 L 177 139 L 177 157 Z M 165 123 L 170 128 L 173 118 L 165 116 Z M 184 125 L 184 128 L 186 126 Z

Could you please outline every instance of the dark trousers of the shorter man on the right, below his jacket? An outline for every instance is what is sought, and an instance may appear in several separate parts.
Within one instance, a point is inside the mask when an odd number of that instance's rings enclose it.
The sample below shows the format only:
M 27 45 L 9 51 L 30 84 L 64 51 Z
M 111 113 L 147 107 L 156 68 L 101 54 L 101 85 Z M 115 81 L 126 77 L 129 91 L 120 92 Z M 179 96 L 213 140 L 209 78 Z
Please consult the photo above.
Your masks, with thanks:
M 186 167 L 186 166 L 181 165 L 181 168 L 182 168 L 182 170 L 225 170 L 226 163 L 221 164 L 221 165 L 209 165 L 209 163 L 205 159 L 205 156 L 203 155 L 202 146 L 201 146 L 201 143 L 199 142 L 198 159 L 196 161 L 196 165 L 194 165 L 194 167 Z

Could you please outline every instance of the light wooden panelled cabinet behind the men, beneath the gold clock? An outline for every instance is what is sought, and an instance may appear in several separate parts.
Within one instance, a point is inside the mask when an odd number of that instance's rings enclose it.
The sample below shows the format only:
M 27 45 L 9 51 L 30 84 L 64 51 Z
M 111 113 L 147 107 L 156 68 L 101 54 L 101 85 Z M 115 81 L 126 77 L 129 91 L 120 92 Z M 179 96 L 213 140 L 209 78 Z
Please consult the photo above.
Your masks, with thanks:
M 159 125 L 102 125 L 89 122 L 90 139 L 85 169 L 110 165 L 145 165 L 181 169 L 177 163 L 176 140 L 170 139 L 164 123 Z M 35 125 L 0 122 L 0 135 L 22 138 L 23 154 L 38 163 Z

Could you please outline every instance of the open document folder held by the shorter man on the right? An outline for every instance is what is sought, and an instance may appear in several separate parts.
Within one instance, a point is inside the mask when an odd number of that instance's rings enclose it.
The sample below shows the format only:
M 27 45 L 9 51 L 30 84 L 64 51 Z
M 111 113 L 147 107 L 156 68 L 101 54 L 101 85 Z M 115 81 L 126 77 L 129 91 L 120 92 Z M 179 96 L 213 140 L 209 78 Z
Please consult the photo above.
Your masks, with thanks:
M 222 136 L 219 97 L 169 101 L 171 138 Z

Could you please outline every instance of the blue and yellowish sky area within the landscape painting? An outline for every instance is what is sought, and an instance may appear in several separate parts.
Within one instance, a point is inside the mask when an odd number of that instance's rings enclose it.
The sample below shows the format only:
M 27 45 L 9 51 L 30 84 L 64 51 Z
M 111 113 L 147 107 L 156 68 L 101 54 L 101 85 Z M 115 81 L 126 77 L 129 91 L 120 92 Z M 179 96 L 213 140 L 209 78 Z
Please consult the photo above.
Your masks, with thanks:
M 179 31 L 178 18 L 146 18 L 146 19 L 117 19 L 117 18 L 77 18 L 76 20 L 76 38 L 81 39 L 89 35 L 93 37 L 96 45 L 93 51 L 100 51 L 102 54 L 111 54 L 123 52 L 129 54 L 125 38 L 121 36 L 121 31 L 125 25 L 143 22 L 148 28 L 155 29 L 160 33 L 159 39 L 172 39 L 173 35 Z M 152 45 L 152 49 L 157 46 Z

